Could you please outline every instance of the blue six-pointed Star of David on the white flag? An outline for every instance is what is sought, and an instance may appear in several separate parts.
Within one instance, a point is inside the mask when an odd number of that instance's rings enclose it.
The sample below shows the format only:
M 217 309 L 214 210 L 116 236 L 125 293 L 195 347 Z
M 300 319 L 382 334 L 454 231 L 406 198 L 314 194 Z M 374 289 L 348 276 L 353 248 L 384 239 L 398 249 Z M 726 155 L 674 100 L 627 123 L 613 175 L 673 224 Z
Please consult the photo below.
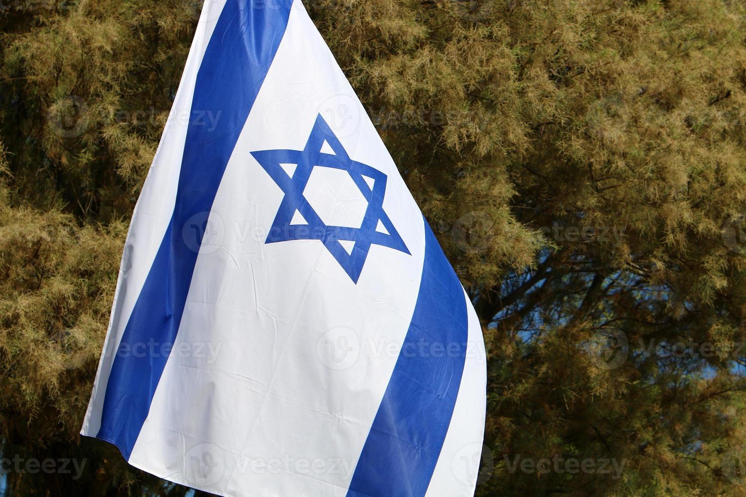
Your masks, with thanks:
M 350 159 L 322 115 L 302 151 L 267 150 L 251 152 L 285 193 L 265 243 L 292 240 L 319 240 L 357 283 L 371 245 L 380 245 L 409 254 L 404 240 L 383 211 L 386 174 Z M 367 201 L 360 227 L 326 224 L 313 209 L 304 190 L 314 168 L 345 171 Z

